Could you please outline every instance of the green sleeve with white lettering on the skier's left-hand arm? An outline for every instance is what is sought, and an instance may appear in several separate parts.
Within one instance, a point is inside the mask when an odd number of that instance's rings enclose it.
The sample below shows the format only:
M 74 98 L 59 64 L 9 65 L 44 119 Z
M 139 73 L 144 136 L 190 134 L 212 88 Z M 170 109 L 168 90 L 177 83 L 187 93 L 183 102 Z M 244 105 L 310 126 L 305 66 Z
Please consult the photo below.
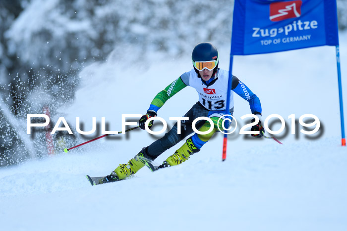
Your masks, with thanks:
M 162 107 L 169 98 L 171 98 L 175 93 L 181 91 L 183 88 L 187 87 L 179 77 L 175 81 L 173 81 L 168 87 L 166 87 L 163 91 L 159 92 L 151 104 L 157 107 Z

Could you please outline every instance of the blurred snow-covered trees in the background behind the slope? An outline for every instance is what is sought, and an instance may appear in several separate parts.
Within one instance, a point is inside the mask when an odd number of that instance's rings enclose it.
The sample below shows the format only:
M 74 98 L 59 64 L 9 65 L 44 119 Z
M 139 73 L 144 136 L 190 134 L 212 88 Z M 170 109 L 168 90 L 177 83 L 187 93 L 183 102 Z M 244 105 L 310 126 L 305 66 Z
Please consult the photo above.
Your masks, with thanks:
M 1 156 L 27 153 L 4 111 L 12 121 L 42 113 L 43 105 L 54 114 L 73 100 L 80 70 L 112 51 L 129 62 L 153 51 L 177 57 L 203 41 L 229 44 L 232 9 L 233 0 L 0 1 Z M 338 0 L 341 30 L 346 10 L 347 1 Z

